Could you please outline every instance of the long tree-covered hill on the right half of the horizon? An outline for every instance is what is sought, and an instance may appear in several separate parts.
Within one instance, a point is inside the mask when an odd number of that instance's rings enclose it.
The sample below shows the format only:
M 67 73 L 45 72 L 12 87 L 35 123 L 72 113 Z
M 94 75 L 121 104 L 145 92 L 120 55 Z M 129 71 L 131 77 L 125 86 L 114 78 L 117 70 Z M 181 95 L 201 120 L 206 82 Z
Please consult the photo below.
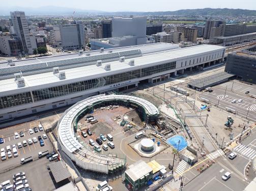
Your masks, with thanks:
M 256 16 L 254 10 L 244 9 L 183 9 L 178 11 L 159 12 L 116 12 L 117 15 L 180 15 L 180 16 Z

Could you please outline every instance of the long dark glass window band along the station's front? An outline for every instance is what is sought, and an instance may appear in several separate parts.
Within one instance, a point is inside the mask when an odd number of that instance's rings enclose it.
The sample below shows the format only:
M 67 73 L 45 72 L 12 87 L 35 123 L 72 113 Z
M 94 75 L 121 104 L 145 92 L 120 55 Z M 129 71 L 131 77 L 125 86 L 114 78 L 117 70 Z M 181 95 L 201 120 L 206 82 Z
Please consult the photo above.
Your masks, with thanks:
M 176 62 L 169 62 L 169 63 L 160 64 L 156 66 L 127 71 L 123 73 L 107 75 L 106 77 L 35 90 L 35 91 L 32 91 L 32 95 L 31 95 L 31 92 L 25 92 L 21 94 L 4 96 L 4 97 L 0 97 L 0 109 L 22 105 L 26 103 L 31 103 L 33 102 L 32 96 L 33 96 L 34 102 L 36 102 L 36 101 L 51 99 L 55 97 L 65 96 L 65 95 L 73 94 L 76 92 L 95 89 L 95 88 L 99 88 L 99 87 L 103 87 L 111 84 L 116 84 L 116 83 L 132 80 L 132 79 L 138 79 L 138 78 L 146 77 L 158 72 L 167 71 L 175 68 L 176 68 Z

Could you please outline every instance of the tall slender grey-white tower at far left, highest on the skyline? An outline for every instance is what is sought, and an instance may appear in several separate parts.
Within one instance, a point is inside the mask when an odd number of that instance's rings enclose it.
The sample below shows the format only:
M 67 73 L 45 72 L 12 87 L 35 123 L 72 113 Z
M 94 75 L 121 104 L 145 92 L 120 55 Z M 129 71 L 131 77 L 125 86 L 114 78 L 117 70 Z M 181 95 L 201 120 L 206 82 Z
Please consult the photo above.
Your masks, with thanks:
M 15 11 L 10 14 L 14 32 L 22 43 L 23 54 L 33 54 L 32 44 L 34 44 L 34 42 L 31 42 L 25 13 L 22 11 Z

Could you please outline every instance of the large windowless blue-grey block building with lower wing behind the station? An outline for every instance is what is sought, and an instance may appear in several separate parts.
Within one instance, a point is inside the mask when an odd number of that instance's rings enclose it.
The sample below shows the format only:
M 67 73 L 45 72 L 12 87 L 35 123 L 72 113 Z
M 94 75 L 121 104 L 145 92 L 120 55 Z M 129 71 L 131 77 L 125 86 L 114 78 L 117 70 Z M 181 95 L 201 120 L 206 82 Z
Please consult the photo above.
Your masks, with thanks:
M 91 39 L 91 49 L 118 48 L 147 44 L 147 17 L 112 18 L 112 37 Z

